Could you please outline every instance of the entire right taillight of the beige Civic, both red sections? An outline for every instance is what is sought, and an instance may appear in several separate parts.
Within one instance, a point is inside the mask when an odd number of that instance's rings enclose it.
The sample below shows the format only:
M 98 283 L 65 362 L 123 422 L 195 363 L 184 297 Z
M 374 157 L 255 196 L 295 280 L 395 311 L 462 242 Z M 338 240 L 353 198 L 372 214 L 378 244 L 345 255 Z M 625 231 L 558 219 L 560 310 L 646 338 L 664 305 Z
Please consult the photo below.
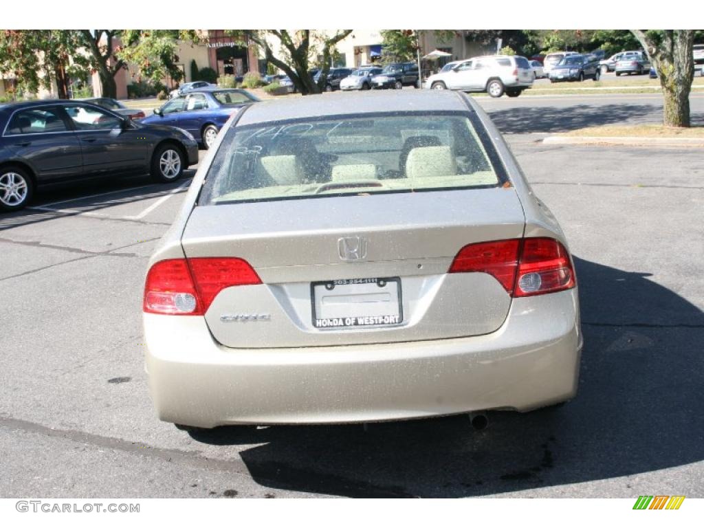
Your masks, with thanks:
M 570 254 L 555 239 L 511 239 L 460 249 L 450 273 L 489 273 L 514 297 L 548 294 L 574 287 Z

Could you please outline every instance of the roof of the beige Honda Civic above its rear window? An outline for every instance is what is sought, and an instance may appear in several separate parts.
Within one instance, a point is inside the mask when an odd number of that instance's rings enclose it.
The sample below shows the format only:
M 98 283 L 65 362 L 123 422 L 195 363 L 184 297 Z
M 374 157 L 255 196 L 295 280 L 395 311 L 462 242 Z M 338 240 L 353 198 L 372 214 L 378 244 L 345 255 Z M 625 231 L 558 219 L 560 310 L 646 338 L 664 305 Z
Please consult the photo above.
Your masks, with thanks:
M 471 111 L 463 96 L 451 91 L 402 90 L 389 94 L 366 92 L 348 97 L 309 95 L 287 99 L 269 99 L 249 106 L 237 126 L 263 122 L 306 118 L 325 118 L 332 115 L 360 115 L 379 112 L 434 112 Z

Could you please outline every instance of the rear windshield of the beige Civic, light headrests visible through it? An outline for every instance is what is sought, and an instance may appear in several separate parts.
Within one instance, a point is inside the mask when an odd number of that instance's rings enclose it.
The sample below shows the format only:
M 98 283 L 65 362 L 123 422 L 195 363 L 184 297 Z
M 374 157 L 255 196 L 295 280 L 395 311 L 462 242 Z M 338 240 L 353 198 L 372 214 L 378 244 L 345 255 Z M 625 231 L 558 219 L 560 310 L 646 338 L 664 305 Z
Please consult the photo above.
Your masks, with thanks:
M 498 184 L 465 114 L 370 115 L 230 128 L 200 203 Z

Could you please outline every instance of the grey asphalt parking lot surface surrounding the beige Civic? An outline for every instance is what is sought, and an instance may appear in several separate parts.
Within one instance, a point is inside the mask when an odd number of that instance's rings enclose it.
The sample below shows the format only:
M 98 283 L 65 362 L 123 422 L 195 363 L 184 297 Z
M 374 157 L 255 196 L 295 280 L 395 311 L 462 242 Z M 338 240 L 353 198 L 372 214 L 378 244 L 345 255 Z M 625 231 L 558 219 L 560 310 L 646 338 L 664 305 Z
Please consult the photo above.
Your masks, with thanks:
M 704 496 L 704 170 L 698 149 L 548 146 L 658 122 L 658 95 L 480 101 L 574 254 L 585 348 L 556 410 L 346 426 L 158 422 L 142 285 L 193 171 L 39 194 L 0 215 L 0 496 Z M 704 96 L 692 96 L 704 122 Z M 201 152 L 201 157 L 203 153 Z

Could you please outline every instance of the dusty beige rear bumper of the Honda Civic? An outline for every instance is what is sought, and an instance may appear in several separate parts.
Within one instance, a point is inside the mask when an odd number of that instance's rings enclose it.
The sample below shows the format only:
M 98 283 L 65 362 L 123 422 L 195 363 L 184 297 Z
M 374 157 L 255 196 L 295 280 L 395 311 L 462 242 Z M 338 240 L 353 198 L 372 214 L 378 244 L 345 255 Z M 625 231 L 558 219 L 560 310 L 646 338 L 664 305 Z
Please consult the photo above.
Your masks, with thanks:
M 158 417 L 197 427 L 373 422 L 558 403 L 577 392 L 577 289 L 514 299 L 496 332 L 408 343 L 225 348 L 202 317 L 144 314 Z

